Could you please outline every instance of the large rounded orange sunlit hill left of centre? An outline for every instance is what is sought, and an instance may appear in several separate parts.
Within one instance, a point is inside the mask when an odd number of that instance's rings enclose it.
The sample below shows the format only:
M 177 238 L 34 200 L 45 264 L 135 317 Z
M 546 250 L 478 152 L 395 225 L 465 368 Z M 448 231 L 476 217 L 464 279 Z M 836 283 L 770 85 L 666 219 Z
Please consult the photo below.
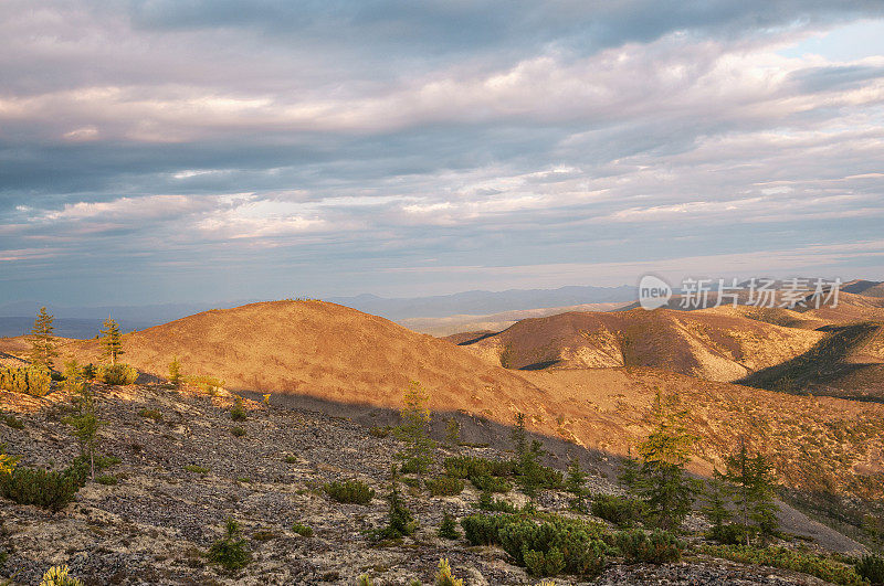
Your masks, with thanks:
M 175 356 L 185 374 L 213 375 L 229 388 L 398 406 L 409 381 L 433 388 L 434 407 L 516 402 L 540 391 L 444 340 L 323 301 L 271 301 L 197 313 L 126 334 L 123 359 L 165 376 Z M 97 361 L 97 341 L 65 347 Z

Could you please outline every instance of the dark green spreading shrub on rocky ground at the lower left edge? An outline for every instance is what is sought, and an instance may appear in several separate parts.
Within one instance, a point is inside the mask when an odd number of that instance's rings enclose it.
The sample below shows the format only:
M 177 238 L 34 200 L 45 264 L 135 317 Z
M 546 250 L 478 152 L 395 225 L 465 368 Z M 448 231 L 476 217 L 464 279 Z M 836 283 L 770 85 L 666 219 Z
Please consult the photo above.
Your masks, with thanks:
M 85 481 L 85 470 L 71 467 L 61 472 L 40 468 L 15 468 L 0 473 L 0 494 L 19 504 L 35 504 L 60 511 L 74 500 Z

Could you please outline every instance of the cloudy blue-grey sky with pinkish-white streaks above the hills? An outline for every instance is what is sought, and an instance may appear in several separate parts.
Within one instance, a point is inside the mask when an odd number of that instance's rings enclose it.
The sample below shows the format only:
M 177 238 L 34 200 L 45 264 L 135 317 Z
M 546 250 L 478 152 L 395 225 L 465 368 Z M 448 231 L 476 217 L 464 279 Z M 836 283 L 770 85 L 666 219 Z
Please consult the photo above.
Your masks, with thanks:
M 6 0 L 0 302 L 884 279 L 884 2 Z

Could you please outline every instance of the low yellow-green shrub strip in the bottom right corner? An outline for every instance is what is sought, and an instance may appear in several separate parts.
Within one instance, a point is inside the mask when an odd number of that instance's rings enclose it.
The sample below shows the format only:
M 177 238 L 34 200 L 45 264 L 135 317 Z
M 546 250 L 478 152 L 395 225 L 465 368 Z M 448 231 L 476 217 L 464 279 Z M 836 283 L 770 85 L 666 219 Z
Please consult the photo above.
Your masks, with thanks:
M 703 553 L 744 564 L 779 567 L 810 574 L 832 584 L 861 586 L 865 584 L 855 566 L 799 550 L 786 547 L 753 547 L 747 545 L 704 545 Z

